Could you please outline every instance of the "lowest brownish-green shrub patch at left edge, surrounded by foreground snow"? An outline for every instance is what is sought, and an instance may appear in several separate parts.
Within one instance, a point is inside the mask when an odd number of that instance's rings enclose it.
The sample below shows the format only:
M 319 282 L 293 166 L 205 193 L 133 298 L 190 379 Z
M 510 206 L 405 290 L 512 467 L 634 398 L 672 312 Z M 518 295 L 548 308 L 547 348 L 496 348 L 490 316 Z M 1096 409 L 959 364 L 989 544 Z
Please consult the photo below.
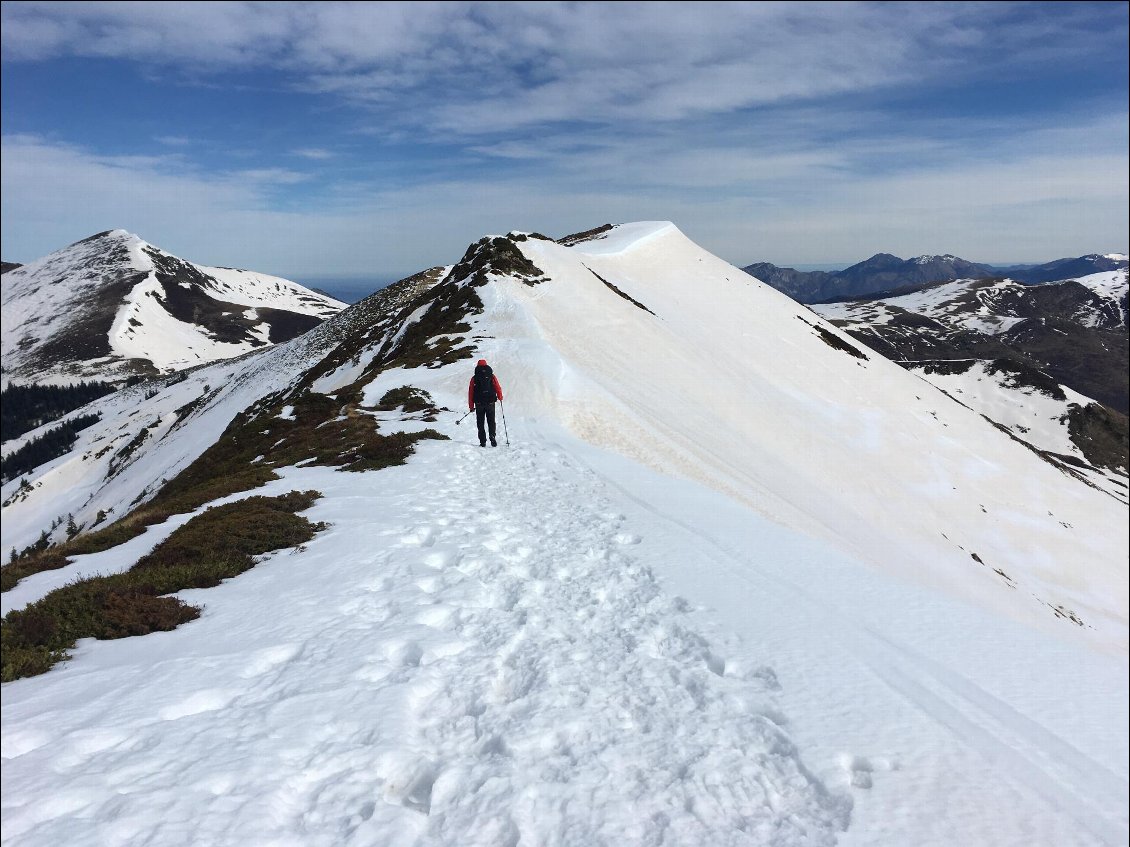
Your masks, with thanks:
M 210 588 L 255 566 L 255 556 L 296 547 L 324 529 L 295 513 L 318 491 L 249 497 L 214 506 L 173 532 L 122 574 L 82 579 L 47 594 L 0 623 L 0 680 L 45 673 L 79 638 L 125 638 L 175 629 L 198 606 L 167 596 Z

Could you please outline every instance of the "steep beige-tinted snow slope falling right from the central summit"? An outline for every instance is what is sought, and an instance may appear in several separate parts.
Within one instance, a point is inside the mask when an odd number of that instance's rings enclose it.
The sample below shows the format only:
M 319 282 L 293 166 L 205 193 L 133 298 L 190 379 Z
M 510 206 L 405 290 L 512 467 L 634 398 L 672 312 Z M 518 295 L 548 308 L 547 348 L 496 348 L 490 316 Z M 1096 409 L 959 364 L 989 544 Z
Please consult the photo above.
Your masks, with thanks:
M 499 308 L 532 321 L 532 350 L 498 342 L 496 358 L 581 437 L 971 601 L 1066 603 L 1124 648 L 1127 540 L 1109 529 L 1123 504 L 896 365 L 832 347 L 853 342 L 670 225 L 523 248 L 554 285 L 511 286 L 521 306 Z

